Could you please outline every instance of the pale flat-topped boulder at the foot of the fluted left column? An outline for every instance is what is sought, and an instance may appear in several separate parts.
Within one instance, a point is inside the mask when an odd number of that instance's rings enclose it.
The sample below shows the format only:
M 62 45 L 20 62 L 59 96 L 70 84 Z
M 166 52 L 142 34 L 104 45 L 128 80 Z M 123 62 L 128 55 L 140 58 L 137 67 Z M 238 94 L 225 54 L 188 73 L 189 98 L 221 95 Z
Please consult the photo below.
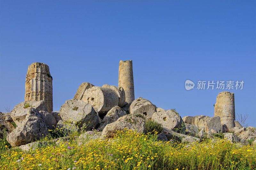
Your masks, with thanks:
M 12 120 L 17 126 L 19 126 L 19 124 L 25 119 L 28 114 L 28 110 L 30 110 L 31 107 L 35 108 L 38 112 L 41 110 L 48 112 L 43 100 L 21 102 L 11 111 Z

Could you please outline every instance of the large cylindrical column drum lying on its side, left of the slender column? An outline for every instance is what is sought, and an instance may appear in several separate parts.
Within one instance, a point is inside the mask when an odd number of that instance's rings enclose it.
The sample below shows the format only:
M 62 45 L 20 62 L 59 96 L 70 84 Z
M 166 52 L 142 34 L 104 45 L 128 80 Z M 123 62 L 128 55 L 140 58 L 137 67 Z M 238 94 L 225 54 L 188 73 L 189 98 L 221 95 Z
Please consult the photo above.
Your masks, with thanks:
M 118 106 L 117 93 L 106 87 L 91 87 L 84 92 L 82 100 L 85 103 L 92 105 L 94 109 L 97 108 L 99 113 L 106 113 L 114 106 Z

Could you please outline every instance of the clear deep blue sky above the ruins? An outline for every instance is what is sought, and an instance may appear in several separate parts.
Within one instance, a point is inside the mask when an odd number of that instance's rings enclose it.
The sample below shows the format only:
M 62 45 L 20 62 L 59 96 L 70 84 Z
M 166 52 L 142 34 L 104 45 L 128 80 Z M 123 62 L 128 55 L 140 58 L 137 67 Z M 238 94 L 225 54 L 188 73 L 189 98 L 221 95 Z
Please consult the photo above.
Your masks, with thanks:
M 24 101 L 31 63 L 49 65 L 59 111 L 83 82 L 117 86 L 119 61 L 132 60 L 135 98 L 181 117 L 214 116 L 225 89 L 198 90 L 197 81 L 244 81 L 227 91 L 256 126 L 256 1 L 1 0 L 0 8 L 2 112 Z

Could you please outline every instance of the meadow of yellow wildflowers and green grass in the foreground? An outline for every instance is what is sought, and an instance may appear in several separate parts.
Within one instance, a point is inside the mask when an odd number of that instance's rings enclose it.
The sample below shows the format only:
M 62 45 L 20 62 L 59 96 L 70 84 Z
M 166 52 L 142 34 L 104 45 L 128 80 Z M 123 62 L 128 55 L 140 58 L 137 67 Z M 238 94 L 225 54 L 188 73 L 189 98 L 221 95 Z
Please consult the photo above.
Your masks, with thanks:
M 94 135 L 93 133 L 90 135 Z M 60 140 L 34 151 L 1 153 L 0 169 L 128 170 L 128 169 L 255 169 L 256 145 L 237 147 L 229 141 L 209 139 L 178 144 L 157 141 L 155 134 L 118 131 L 113 139 Z

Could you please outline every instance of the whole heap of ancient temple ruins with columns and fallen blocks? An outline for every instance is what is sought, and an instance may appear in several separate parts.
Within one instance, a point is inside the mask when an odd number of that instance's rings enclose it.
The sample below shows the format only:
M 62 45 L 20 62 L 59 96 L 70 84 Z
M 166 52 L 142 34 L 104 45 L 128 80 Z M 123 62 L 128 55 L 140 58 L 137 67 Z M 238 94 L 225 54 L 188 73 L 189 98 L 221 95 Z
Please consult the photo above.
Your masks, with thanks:
M 80 133 L 83 128 L 96 129 L 102 131 L 99 137 L 104 139 L 124 129 L 146 133 L 147 121 L 162 127 L 157 140 L 163 141 L 193 143 L 204 138 L 214 139 L 216 135 L 225 133 L 227 140 L 243 146 L 249 144 L 248 140 L 256 138 L 255 128 L 245 128 L 235 122 L 235 100 L 231 92 L 218 94 L 214 117 L 196 115 L 181 118 L 175 109 L 164 110 L 142 97 L 134 100 L 132 60 L 120 61 L 118 87 L 99 87 L 84 82 L 78 87 L 74 98 L 61 106 L 60 112 L 52 112 L 49 66 L 32 63 L 28 67 L 25 88 L 25 101 L 16 105 L 11 113 L 0 112 L 4 115 L 3 119 L 0 116 L 0 122 L 8 132 L 6 140 L 13 147 L 21 145 L 21 149 L 47 135 L 48 130 L 65 137 Z M 10 123 L 12 121 L 16 128 Z

